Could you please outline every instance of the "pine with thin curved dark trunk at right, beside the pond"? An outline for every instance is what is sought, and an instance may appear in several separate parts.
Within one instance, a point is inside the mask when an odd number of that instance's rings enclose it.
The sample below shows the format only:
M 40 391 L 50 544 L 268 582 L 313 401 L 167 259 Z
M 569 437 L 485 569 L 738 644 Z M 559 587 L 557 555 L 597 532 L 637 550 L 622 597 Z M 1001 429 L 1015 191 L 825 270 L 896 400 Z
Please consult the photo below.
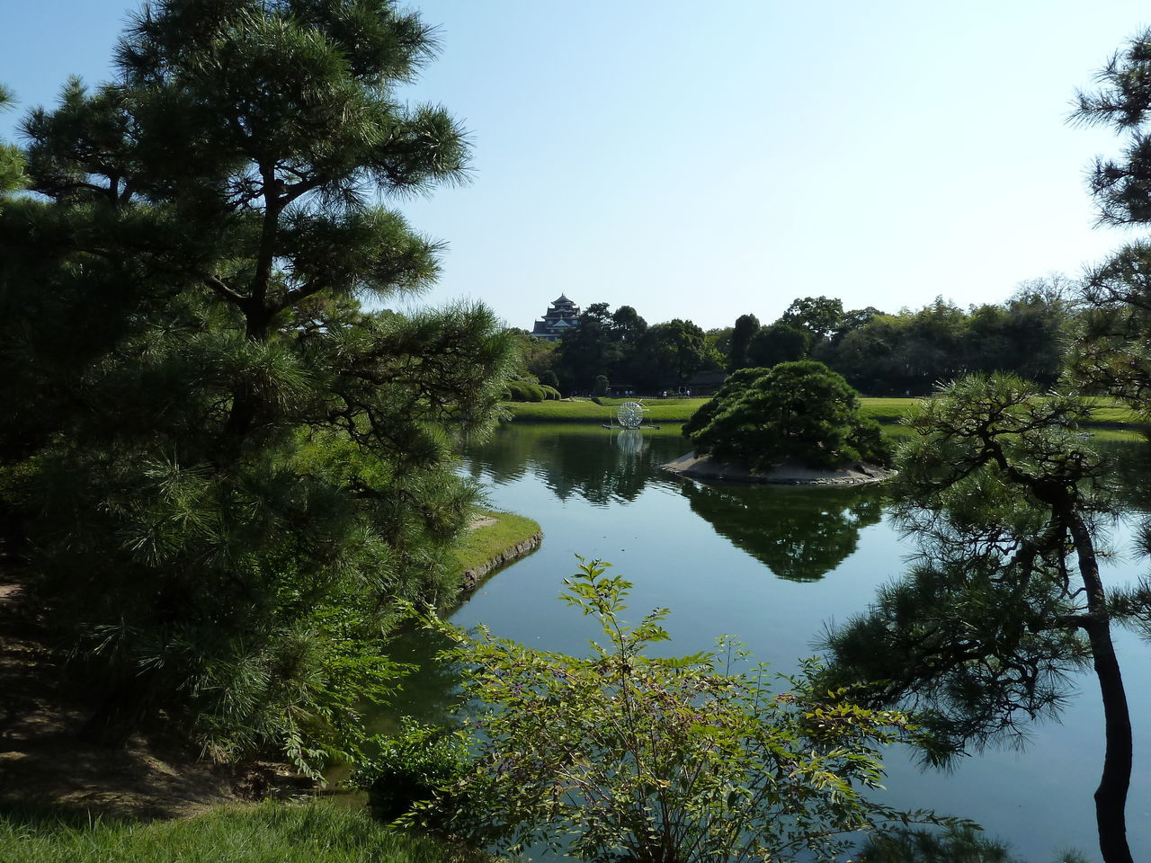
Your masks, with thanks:
M 897 487 L 920 555 L 826 647 L 833 685 L 868 682 L 867 703 L 921 712 L 938 762 L 1021 742 L 1029 720 L 1057 713 L 1066 678 L 1090 665 L 1106 718 L 1100 849 L 1128 863 L 1131 724 L 1111 621 L 1129 609 L 1122 596 L 1112 608 L 1100 578 L 1114 495 L 1078 434 L 1089 413 L 1012 375 L 973 375 L 923 402 Z

